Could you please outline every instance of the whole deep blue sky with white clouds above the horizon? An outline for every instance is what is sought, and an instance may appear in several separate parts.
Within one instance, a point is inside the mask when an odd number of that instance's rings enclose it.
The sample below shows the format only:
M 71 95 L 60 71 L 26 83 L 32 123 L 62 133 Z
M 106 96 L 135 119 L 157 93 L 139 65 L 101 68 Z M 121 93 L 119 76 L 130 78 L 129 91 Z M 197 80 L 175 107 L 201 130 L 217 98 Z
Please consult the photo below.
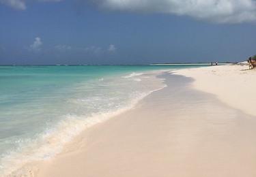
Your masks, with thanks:
M 244 61 L 255 0 L 0 0 L 0 65 Z

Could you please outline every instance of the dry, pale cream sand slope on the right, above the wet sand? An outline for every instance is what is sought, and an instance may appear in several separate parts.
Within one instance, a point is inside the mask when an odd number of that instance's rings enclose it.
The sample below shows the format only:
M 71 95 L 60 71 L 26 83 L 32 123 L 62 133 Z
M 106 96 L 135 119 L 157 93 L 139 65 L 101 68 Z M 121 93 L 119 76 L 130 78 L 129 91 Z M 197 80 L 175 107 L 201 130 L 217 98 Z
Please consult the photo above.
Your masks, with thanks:
M 223 65 L 175 72 L 195 79 L 193 88 L 212 93 L 221 101 L 256 116 L 256 69 L 248 65 Z

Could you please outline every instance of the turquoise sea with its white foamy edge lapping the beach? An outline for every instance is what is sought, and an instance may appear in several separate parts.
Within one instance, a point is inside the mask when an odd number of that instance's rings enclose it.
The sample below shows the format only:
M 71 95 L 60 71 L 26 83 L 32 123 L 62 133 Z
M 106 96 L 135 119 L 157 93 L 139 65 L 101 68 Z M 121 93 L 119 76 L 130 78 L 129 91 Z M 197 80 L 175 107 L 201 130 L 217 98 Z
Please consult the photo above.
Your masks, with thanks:
M 199 66 L 0 66 L 0 176 L 130 108 L 152 91 L 147 71 L 185 67 Z

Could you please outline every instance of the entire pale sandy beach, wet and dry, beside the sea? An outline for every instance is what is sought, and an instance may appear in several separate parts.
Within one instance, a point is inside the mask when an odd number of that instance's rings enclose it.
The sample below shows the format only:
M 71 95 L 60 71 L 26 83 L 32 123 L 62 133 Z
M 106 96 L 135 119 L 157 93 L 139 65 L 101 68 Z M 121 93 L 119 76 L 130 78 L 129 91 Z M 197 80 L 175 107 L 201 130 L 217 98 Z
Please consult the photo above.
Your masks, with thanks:
M 176 71 L 195 82 L 165 74 L 167 87 L 84 131 L 37 176 L 255 177 L 255 71 L 241 69 Z

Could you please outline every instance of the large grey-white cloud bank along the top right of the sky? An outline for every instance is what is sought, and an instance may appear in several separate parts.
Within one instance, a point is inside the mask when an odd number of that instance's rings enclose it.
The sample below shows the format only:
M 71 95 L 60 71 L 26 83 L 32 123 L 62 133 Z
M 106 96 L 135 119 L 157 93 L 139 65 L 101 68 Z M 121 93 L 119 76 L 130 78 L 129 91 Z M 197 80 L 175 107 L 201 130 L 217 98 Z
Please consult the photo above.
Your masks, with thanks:
M 169 13 L 212 22 L 256 21 L 255 0 L 98 0 L 111 10 Z

